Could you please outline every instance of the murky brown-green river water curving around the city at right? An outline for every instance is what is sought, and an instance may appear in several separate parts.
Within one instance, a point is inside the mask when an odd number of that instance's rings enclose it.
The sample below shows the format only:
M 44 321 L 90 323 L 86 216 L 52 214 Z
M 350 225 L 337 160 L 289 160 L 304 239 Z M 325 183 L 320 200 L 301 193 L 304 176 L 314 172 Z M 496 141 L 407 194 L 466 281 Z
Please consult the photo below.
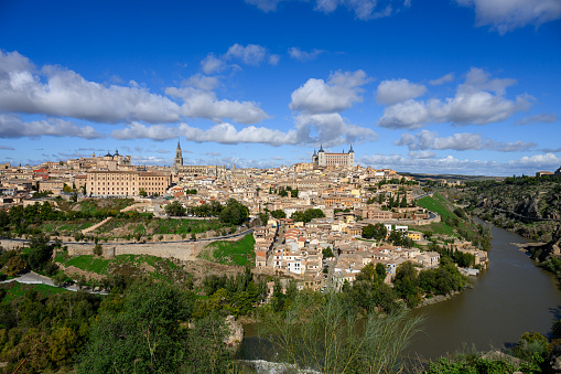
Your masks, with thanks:
M 409 352 L 410 357 L 434 360 L 472 344 L 479 351 L 516 343 L 527 331 L 548 334 L 561 318 L 561 290 L 555 277 L 536 266 L 513 243 L 528 239 L 492 226 L 489 269 L 471 277 L 473 289 L 413 311 L 425 316 Z M 242 356 L 268 359 L 256 331 L 246 325 Z

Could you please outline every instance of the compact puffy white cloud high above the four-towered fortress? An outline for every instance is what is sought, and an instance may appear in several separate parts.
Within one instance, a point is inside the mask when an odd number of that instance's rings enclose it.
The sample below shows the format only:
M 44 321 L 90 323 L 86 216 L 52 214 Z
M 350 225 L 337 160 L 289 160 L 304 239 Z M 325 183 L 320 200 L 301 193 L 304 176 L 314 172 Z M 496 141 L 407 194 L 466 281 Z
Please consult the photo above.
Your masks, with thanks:
M 335 72 L 327 82 L 310 78 L 291 95 L 290 109 L 305 114 L 335 113 L 348 109 L 354 103 L 362 103 L 360 86 L 370 79 L 362 70 Z

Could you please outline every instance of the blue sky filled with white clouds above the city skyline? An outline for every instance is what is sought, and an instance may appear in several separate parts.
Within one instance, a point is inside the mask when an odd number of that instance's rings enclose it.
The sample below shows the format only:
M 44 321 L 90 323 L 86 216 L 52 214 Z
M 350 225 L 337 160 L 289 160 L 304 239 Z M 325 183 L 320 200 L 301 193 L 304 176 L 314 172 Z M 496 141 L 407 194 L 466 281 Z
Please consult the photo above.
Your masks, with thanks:
M 0 162 L 561 167 L 561 0 L 0 0 Z

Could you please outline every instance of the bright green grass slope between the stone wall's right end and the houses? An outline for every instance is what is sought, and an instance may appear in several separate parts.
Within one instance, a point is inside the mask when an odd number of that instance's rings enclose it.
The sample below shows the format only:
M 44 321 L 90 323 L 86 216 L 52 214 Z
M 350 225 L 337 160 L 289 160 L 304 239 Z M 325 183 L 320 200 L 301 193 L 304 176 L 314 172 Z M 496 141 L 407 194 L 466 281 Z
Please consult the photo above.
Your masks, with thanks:
M 237 242 L 214 242 L 206 246 L 199 257 L 223 265 L 246 266 L 253 261 L 255 243 L 256 241 L 251 234 Z

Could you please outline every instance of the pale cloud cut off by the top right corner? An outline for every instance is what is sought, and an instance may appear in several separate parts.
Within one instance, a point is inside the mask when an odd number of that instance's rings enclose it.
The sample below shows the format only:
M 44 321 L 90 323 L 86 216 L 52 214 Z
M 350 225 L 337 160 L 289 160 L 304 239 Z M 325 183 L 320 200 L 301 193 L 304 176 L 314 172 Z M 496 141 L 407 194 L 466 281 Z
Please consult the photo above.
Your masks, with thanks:
M 490 25 L 505 34 L 528 24 L 539 26 L 561 18 L 559 0 L 456 0 L 460 6 L 474 7 L 476 25 Z

